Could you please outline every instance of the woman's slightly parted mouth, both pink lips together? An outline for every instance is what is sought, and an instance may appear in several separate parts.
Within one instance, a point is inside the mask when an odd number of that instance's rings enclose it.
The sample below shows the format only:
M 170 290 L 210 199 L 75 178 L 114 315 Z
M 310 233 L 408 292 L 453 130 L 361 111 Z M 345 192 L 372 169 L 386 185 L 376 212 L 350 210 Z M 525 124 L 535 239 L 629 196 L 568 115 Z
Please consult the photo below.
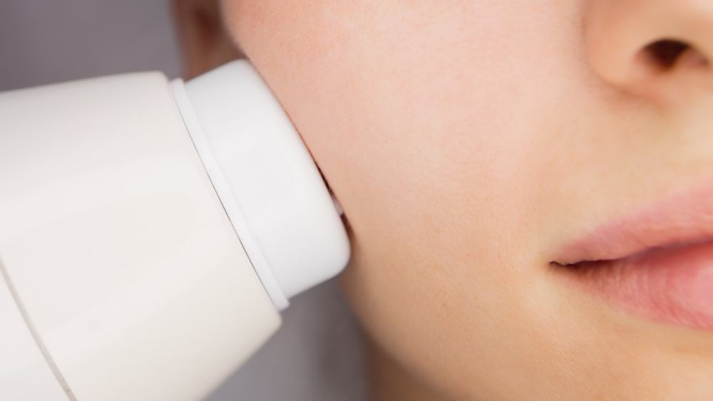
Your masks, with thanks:
M 713 330 L 713 187 L 604 224 L 550 264 L 627 312 Z

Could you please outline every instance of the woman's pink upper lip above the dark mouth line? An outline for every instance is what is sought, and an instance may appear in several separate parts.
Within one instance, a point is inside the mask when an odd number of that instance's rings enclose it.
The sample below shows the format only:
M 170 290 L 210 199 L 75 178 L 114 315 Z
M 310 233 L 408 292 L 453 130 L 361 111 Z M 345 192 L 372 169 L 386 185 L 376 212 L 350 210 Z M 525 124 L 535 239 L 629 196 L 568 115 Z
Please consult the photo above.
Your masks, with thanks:
M 713 186 L 674 194 L 607 222 L 565 246 L 553 263 L 611 261 L 713 241 Z

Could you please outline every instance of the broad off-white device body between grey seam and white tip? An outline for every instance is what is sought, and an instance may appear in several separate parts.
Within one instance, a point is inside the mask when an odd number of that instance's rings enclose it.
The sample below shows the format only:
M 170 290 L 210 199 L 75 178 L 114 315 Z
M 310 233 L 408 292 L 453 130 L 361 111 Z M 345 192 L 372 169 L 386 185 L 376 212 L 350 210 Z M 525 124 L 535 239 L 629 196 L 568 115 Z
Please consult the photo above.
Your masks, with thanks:
M 80 401 L 200 400 L 279 326 L 158 73 L 0 94 L 0 259 Z

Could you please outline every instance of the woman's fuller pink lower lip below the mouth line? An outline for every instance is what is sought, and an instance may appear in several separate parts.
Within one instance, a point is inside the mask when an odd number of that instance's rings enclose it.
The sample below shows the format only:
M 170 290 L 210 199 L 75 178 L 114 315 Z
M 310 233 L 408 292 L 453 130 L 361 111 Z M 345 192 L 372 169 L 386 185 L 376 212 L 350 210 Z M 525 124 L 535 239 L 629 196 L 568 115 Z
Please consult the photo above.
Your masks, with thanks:
M 590 290 L 631 313 L 713 330 L 713 241 L 564 267 Z

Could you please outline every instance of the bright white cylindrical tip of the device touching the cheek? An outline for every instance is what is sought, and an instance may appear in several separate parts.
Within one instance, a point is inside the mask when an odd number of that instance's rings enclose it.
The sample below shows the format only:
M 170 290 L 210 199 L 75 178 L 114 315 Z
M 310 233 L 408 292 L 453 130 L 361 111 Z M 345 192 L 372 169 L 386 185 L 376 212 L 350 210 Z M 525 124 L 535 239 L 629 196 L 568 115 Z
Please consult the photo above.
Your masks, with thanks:
M 173 89 L 238 236 L 278 308 L 338 274 L 349 239 L 322 176 L 270 88 L 233 61 Z

